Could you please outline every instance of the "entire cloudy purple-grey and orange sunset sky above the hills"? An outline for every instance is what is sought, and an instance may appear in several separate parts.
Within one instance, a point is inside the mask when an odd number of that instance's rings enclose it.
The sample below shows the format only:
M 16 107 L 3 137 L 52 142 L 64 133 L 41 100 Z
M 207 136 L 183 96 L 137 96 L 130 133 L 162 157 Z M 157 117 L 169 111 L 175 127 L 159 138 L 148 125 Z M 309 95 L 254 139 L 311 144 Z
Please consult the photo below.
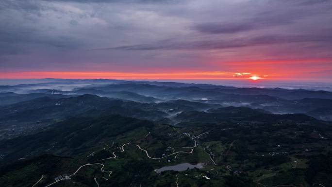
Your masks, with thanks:
M 0 79 L 332 82 L 332 0 L 1 0 Z

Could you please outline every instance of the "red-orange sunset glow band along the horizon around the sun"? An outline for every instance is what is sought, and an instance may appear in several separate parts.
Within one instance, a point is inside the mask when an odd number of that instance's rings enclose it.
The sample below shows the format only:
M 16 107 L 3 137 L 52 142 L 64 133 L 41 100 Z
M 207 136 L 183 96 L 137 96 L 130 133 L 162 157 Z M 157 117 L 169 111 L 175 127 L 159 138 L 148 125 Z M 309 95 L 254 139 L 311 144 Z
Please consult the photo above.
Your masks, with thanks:
M 315 69 L 312 62 L 320 64 Z M 149 68 L 146 72 L 120 71 L 3 71 L 0 79 L 122 79 L 122 80 L 314 80 L 313 73 L 325 71 L 332 59 L 230 62 L 227 71 Z M 209 62 L 207 62 L 209 64 Z M 216 63 L 217 64 L 217 63 Z M 226 63 L 227 64 L 227 63 Z M 296 65 L 301 65 L 294 70 Z M 222 69 L 222 68 L 221 68 Z M 317 73 L 316 73 L 317 74 Z M 319 73 L 319 77 L 325 76 Z M 254 77 L 256 76 L 256 77 Z

